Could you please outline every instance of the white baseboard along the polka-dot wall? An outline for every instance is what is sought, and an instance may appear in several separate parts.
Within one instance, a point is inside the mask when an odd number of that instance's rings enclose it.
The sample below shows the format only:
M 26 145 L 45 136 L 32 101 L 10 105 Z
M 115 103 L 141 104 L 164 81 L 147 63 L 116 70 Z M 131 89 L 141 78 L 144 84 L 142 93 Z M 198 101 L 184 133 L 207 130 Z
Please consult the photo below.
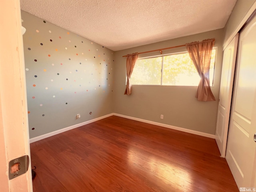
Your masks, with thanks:
M 47 133 L 47 134 L 44 134 L 44 135 L 40 135 L 38 137 L 31 138 L 29 140 L 29 142 L 33 143 L 33 142 L 36 142 L 36 141 L 48 138 L 50 136 L 54 136 L 56 134 L 59 134 L 59 133 L 65 132 L 65 131 L 68 131 L 68 130 L 71 130 L 71 129 L 74 129 L 74 128 L 78 128 L 80 126 L 87 125 L 89 123 L 92 123 L 92 122 L 95 122 L 95 121 L 98 121 L 98 120 L 101 120 L 101 119 L 104 119 L 104 118 L 107 118 L 107 117 L 110 117 L 110 116 L 113 116 L 113 113 L 110 113 L 108 115 L 105 115 L 105 116 L 102 116 L 102 117 L 98 117 L 98 118 L 95 118 L 95 119 L 92 119 L 92 120 L 89 120 L 89 121 L 86 121 L 86 122 L 82 122 L 82 123 L 79 123 L 79 124 L 76 124 L 76 125 L 72 125 L 72 126 L 60 129 L 60 130 L 56 130 L 54 132 L 50 132 L 50 133 Z

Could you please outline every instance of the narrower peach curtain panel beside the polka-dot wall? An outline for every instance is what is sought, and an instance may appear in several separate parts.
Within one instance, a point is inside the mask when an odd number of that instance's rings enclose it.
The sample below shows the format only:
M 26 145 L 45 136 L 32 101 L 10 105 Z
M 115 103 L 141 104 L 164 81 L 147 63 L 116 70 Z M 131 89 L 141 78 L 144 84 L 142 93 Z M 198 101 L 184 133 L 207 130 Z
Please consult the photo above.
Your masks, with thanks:
M 129 54 L 126 56 L 126 77 L 127 77 L 127 82 L 126 82 L 126 89 L 124 91 L 125 95 L 130 95 L 132 94 L 132 85 L 130 85 L 130 77 L 132 75 L 132 71 L 134 68 L 134 65 L 136 63 L 136 60 L 138 59 L 138 53 L 133 53 Z

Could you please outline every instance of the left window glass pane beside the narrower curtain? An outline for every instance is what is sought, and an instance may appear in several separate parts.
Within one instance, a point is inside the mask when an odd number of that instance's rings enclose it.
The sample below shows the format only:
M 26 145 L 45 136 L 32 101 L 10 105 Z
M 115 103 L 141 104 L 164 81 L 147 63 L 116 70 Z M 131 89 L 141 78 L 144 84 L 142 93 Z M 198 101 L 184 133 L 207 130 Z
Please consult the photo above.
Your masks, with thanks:
M 160 85 L 162 57 L 138 59 L 134 66 L 131 84 Z

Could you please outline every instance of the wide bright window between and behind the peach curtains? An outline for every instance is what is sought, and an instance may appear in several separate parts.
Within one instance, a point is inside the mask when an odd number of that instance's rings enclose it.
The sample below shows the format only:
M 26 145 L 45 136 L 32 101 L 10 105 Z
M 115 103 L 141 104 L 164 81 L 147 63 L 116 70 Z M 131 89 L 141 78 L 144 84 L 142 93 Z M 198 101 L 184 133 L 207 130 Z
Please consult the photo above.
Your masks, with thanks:
M 212 49 L 210 84 L 213 86 L 217 48 Z M 200 76 L 188 52 L 139 58 L 130 83 L 133 85 L 198 86 Z

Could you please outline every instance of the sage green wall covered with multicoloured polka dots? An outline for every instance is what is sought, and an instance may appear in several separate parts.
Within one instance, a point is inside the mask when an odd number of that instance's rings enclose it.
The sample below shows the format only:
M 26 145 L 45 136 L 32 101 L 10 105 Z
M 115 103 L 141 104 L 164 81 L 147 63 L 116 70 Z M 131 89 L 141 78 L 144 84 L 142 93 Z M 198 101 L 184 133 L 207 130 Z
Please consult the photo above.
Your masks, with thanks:
M 21 17 L 30 138 L 113 113 L 114 52 L 27 12 Z

